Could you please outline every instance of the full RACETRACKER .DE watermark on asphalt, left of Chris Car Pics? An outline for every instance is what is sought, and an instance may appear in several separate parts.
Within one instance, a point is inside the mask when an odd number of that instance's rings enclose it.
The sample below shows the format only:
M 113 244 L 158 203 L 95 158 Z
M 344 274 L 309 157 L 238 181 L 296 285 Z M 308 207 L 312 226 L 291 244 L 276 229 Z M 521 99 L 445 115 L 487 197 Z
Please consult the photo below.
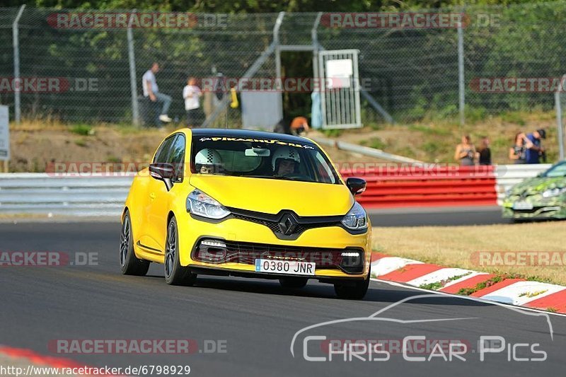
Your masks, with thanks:
M 53 354 L 226 354 L 227 340 L 195 339 L 57 339 Z

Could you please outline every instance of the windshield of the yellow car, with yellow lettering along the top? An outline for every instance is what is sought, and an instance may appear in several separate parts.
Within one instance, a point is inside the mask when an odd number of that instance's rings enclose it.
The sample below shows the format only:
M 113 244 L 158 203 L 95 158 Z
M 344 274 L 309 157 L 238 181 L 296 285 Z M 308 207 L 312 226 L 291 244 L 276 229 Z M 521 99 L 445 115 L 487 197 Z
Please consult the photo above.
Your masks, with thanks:
M 340 182 L 325 154 L 308 141 L 195 135 L 191 169 L 197 174 Z

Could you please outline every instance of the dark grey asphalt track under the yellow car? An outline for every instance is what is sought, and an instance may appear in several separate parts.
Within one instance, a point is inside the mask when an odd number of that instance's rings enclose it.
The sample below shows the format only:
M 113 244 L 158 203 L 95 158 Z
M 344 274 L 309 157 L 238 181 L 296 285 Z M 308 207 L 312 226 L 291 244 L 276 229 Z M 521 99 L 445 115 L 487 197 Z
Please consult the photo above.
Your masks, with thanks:
M 337 299 L 332 286 L 318 282 L 296 292 L 277 282 L 232 277 L 200 277 L 196 286 L 168 286 L 161 265 L 152 265 L 147 277 L 122 276 L 118 237 L 116 222 L 0 224 L 1 251 L 57 251 L 68 253 L 71 260 L 76 253 L 98 256 L 98 265 L 83 267 L 0 267 L 0 344 L 89 366 L 189 365 L 191 376 L 543 376 L 564 369 L 564 316 L 548 315 L 551 337 L 546 315 L 454 296 L 410 300 L 374 320 L 363 320 L 404 298 L 424 294 L 382 282 L 371 282 L 364 301 Z M 345 318 L 361 319 L 301 332 L 291 354 L 296 332 Z M 332 361 L 306 361 L 307 335 L 386 344 L 424 335 L 427 340 L 461 341 L 468 344 L 468 352 L 463 355 L 466 361 L 406 361 L 395 349 L 390 349 L 387 361 L 355 356 L 344 361 L 340 354 Z M 485 354 L 480 361 L 477 342 L 482 335 L 504 337 L 505 351 Z M 221 340 L 226 353 L 55 354 L 47 349 L 50 340 L 62 339 L 191 339 L 201 351 L 205 340 Z M 536 350 L 546 352 L 545 361 L 514 361 L 541 356 L 526 347 L 517 346 L 514 356 L 507 353 L 513 345 L 535 343 Z M 326 356 L 320 341 L 307 344 L 308 355 Z

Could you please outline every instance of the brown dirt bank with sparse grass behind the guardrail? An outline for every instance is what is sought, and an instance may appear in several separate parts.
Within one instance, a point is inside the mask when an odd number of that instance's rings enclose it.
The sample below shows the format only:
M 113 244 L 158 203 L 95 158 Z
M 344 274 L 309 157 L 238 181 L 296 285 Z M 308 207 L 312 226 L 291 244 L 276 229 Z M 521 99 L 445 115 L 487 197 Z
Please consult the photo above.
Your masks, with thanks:
M 424 162 L 454 163 L 454 148 L 462 134 L 470 134 L 474 144 L 480 137 L 491 141 L 494 163 L 509 163 L 507 154 L 519 130 L 547 130 L 543 145 L 548 149 L 548 162 L 558 158 L 555 115 L 551 112 L 512 113 L 460 127 L 450 122 L 415 124 L 370 124 L 362 129 L 320 132 L 307 137 L 327 137 L 361 144 L 388 153 L 415 158 Z M 160 141 L 174 126 L 167 129 L 139 129 L 118 124 L 57 124 L 41 121 L 11 124 L 11 172 L 43 172 L 48 163 L 147 163 Z M 335 163 L 384 162 L 358 153 L 324 147 Z

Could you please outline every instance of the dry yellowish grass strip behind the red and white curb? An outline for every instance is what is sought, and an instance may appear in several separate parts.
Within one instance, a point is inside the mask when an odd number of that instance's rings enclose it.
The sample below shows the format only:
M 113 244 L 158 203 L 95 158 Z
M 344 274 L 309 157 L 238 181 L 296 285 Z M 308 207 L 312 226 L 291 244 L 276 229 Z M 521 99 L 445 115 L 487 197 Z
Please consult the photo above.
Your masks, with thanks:
M 489 267 L 479 265 L 478 251 L 566 252 L 564 221 L 490 226 L 419 226 L 374 228 L 374 250 L 396 257 L 522 277 L 538 282 L 566 285 L 563 265 Z M 473 292 L 463 292 L 463 294 Z

